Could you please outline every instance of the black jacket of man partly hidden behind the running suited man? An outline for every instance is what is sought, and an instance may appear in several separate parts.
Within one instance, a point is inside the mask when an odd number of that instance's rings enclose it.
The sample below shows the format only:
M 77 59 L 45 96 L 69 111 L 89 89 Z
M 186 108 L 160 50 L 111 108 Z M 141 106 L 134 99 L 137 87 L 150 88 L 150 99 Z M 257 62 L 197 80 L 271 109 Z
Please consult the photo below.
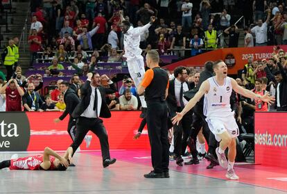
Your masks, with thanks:
M 66 104 L 66 109 L 60 116 L 60 120 L 63 120 L 68 114 L 71 115 L 76 106 L 80 104 L 80 99 L 72 88 L 68 88 L 68 90 L 64 93 L 64 103 Z

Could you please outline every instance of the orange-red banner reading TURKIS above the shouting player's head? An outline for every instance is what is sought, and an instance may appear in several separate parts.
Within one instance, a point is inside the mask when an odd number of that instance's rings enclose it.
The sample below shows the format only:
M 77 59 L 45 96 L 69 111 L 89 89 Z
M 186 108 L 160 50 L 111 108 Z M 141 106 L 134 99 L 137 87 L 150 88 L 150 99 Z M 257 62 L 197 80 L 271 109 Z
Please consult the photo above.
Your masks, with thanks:
M 287 45 L 280 45 L 280 47 L 287 51 Z M 263 58 L 271 58 L 272 52 L 273 46 L 217 49 L 166 65 L 166 68 L 168 68 L 168 70 L 173 70 L 180 65 L 200 67 L 203 66 L 207 60 L 224 60 L 228 66 L 228 74 L 237 74 L 237 71 L 243 69 L 244 65 L 247 63 L 248 54 L 252 54 L 254 60 L 262 60 Z

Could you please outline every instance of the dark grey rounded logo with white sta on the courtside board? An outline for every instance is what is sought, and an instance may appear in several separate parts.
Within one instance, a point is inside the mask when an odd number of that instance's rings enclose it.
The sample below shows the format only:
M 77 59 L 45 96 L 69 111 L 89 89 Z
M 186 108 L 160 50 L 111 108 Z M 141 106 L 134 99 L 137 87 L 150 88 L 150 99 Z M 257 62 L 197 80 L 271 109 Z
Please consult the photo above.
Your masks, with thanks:
M 0 151 L 26 151 L 30 140 L 26 113 L 3 112 L 0 118 Z

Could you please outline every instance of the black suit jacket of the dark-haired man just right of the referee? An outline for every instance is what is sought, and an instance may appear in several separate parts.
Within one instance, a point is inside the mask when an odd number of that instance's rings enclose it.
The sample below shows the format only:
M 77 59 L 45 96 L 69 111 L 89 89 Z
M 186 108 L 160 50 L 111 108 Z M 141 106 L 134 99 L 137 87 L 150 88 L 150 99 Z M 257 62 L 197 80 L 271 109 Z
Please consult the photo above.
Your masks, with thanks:
M 191 84 L 189 84 L 187 81 L 186 83 L 189 87 L 189 90 L 191 90 Z M 168 97 L 166 98 L 166 102 L 168 104 L 169 115 L 171 115 L 171 117 L 174 117 L 177 112 L 177 101 L 175 98 L 175 79 L 169 81 Z

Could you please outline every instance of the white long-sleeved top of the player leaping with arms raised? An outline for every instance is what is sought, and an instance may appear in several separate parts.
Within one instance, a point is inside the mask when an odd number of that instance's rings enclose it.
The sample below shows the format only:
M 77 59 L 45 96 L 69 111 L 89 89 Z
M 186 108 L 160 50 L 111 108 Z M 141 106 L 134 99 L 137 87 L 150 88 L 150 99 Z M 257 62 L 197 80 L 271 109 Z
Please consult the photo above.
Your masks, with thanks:
M 128 32 L 123 35 L 123 46 L 125 47 L 124 57 L 127 58 L 127 60 L 142 58 L 142 50 L 139 48 L 139 42 L 141 41 L 141 34 L 146 32 L 150 26 L 150 23 L 137 28 L 130 26 Z

